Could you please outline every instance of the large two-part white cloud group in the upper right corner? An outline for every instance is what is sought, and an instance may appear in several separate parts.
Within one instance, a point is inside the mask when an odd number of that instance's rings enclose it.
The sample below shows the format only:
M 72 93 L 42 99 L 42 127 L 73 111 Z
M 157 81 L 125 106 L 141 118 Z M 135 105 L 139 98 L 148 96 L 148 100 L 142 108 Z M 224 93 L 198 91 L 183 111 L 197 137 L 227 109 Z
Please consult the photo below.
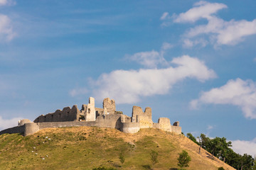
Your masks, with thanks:
M 183 47 L 193 47 L 194 45 L 206 46 L 206 42 L 211 42 L 213 45 L 236 45 L 242 42 L 246 36 L 256 34 L 256 19 L 252 21 L 224 21 L 222 18 L 215 16 L 219 10 L 227 8 L 225 4 L 209 3 L 207 1 L 199 1 L 194 4 L 194 7 L 180 13 L 174 14 L 172 17 L 167 17 L 163 14 L 161 17 L 164 20 L 162 26 L 168 26 L 168 20 L 173 18 L 174 23 L 195 23 L 198 20 L 205 19 L 207 24 L 199 25 L 186 31 L 183 35 Z M 166 24 L 165 24 L 166 23 Z M 198 39 L 198 36 L 200 36 Z M 203 38 L 208 39 L 202 40 Z

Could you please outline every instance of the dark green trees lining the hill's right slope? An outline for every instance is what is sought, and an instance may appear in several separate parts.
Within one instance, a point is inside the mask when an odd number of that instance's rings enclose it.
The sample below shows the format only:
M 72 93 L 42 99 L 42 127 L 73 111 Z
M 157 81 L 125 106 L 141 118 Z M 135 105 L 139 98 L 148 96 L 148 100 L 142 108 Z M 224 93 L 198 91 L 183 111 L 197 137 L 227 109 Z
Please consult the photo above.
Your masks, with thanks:
M 226 164 L 233 166 L 238 170 L 256 170 L 256 159 L 249 154 L 237 154 L 231 149 L 232 142 L 227 142 L 225 137 L 215 137 L 210 139 L 206 135 L 201 134 L 200 137 L 193 137 L 191 133 L 187 133 L 188 139 L 192 140 L 198 145 L 198 152 L 201 148 L 206 149 L 210 154 L 222 160 Z

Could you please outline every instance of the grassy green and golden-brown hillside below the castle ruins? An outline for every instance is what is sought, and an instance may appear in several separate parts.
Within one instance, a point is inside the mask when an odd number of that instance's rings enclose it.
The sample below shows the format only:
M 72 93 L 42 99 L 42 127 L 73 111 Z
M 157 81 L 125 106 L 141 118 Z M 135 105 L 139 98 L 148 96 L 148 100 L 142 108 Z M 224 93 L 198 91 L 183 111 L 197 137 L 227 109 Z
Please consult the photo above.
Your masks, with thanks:
M 158 153 L 152 165 L 150 152 Z M 225 170 L 233 167 L 215 157 L 183 135 L 157 129 L 142 129 L 136 134 L 95 127 L 48 128 L 34 135 L 0 135 L 0 169 L 178 169 L 178 153 L 191 156 L 187 169 Z M 124 154 L 121 167 L 120 153 Z

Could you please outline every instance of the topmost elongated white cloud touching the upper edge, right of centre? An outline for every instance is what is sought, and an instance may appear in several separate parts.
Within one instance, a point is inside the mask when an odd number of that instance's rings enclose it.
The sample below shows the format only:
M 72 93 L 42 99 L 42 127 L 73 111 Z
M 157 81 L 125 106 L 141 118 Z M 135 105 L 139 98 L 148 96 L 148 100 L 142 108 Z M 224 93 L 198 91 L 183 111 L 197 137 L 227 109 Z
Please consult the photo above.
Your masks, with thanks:
M 194 4 L 195 7 L 186 11 L 186 13 L 180 13 L 174 19 L 176 23 L 195 22 L 201 18 L 209 18 L 211 14 L 216 13 L 220 9 L 227 8 L 225 4 L 220 3 L 208 3 L 206 1 L 199 1 Z

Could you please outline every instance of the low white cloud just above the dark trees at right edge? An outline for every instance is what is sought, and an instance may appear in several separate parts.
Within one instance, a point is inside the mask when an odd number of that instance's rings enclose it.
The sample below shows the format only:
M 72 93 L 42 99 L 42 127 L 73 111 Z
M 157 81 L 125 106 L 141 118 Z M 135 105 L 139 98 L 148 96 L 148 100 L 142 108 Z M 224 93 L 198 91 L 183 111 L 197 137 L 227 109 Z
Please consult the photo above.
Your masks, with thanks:
M 256 156 L 256 138 L 251 141 L 233 140 L 232 149 L 238 154 L 250 154 L 252 157 Z

